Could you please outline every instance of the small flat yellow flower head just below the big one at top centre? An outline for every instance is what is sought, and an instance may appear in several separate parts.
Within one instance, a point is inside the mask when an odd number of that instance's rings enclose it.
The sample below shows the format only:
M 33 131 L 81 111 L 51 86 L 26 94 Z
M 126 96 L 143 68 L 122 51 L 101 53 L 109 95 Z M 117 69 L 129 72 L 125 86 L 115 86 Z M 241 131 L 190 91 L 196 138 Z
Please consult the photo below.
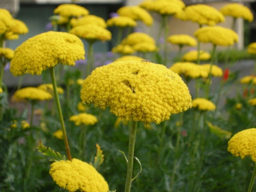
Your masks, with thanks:
M 131 17 L 118 16 L 118 17 L 112 17 L 112 18 L 108 19 L 107 20 L 107 25 L 109 27 L 112 27 L 112 26 L 116 26 L 116 27 L 135 27 L 137 25 L 137 23 Z

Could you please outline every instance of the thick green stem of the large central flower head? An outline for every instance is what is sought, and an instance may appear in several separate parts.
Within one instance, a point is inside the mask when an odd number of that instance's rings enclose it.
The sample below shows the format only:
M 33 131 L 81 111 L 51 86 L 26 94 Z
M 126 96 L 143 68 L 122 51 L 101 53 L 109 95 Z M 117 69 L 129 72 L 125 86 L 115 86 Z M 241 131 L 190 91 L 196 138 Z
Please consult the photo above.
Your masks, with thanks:
M 137 131 L 137 121 L 131 122 L 130 129 L 130 139 L 129 139 L 129 151 L 128 151 L 128 165 L 126 174 L 126 183 L 124 192 L 130 192 L 132 186 L 132 169 L 133 169 L 133 158 L 134 158 L 134 147 L 135 147 L 135 137 Z

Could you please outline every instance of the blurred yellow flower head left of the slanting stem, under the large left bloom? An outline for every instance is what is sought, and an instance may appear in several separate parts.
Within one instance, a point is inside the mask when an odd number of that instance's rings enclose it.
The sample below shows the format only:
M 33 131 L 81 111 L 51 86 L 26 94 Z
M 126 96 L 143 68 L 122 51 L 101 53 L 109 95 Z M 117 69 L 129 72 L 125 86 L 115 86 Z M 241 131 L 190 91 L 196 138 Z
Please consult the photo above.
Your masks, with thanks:
M 25 87 L 17 90 L 14 93 L 14 97 L 18 100 L 50 100 L 52 95 L 44 90 L 38 89 L 36 87 Z

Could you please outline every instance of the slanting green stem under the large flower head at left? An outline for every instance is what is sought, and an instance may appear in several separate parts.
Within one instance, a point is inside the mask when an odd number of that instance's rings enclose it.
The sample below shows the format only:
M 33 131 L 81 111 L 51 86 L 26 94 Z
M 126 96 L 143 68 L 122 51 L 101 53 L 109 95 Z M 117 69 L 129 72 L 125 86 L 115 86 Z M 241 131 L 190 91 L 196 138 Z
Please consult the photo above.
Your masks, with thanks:
M 49 70 L 50 70 L 51 79 L 52 79 L 54 99 L 55 99 L 59 117 L 60 117 L 60 124 L 61 124 L 62 132 L 63 132 L 63 140 L 65 143 L 68 160 L 71 161 L 72 158 L 71 158 L 70 149 L 69 149 L 69 145 L 68 145 L 68 138 L 67 138 L 67 133 L 66 133 L 66 129 L 65 129 L 65 124 L 64 124 L 64 120 L 63 120 L 63 116 L 62 116 L 62 112 L 61 112 L 61 108 L 60 108 L 60 100 L 59 100 L 59 95 L 57 92 L 57 85 L 56 85 L 56 80 L 55 80 L 55 76 L 54 76 L 54 68 L 49 68 Z

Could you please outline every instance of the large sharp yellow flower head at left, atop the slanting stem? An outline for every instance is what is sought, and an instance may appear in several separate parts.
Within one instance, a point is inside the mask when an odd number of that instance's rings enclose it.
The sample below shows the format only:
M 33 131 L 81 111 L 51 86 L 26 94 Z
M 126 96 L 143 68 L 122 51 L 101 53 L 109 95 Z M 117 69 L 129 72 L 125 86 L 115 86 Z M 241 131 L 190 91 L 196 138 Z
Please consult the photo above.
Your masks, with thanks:
M 75 61 L 84 59 L 82 41 L 65 32 L 45 32 L 29 38 L 14 52 L 10 71 L 14 76 L 24 73 L 40 75 L 43 70 L 58 63 L 75 65 Z

